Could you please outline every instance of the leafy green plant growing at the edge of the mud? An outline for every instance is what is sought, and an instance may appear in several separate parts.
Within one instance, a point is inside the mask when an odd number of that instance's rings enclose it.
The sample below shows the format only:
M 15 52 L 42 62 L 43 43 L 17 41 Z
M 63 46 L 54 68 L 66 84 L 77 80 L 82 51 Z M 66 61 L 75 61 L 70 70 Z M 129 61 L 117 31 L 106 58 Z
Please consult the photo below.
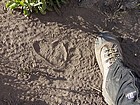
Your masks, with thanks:
M 11 10 L 21 9 L 25 16 L 32 12 L 46 14 L 46 11 L 56 11 L 60 13 L 59 8 L 66 4 L 68 0 L 9 0 L 6 7 Z

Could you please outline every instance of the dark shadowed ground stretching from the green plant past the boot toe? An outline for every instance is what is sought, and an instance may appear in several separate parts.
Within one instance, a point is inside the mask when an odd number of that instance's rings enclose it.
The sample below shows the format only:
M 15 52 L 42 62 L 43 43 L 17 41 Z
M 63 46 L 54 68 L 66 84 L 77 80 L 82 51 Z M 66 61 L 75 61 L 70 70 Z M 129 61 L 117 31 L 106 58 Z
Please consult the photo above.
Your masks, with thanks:
M 118 12 L 111 16 L 94 5 L 85 8 L 78 7 L 75 2 L 72 2 L 67 7 L 63 7 L 61 11 L 63 11 L 61 15 L 56 13 L 48 13 L 49 16 L 34 14 L 33 18 L 38 18 L 46 25 L 47 22 L 57 22 L 67 29 L 82 30 L 93 37 L 102 31 L 112 32 L 121 38 L 126 65 L 140 71 L 140 15 L 137 10 Z

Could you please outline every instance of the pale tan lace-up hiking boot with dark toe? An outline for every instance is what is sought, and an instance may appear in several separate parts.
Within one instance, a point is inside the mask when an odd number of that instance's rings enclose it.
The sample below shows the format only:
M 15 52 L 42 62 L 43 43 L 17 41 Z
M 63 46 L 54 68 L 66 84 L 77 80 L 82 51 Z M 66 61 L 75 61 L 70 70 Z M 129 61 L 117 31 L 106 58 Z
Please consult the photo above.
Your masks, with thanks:
M 114 103 L 111 97 L 108 95 L 105 86 L 110 66 L 117 59 L 123 60 L 119 41 L 113 35 L 111 35 L 111 33 L 100 34 L 95 41 L 95 55 L 103 75 L 102 94 L 105 101 L 109 105 L 113 105 Z

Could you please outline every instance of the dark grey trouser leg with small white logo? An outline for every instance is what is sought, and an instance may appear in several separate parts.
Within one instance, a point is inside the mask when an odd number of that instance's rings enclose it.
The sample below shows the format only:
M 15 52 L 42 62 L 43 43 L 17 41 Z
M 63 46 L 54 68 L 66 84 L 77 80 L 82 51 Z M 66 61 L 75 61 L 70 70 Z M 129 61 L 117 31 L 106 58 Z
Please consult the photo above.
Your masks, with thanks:
M 110 67 L 106 89 L 115 105 L 140 105 L 140 78 L 119 59 Z

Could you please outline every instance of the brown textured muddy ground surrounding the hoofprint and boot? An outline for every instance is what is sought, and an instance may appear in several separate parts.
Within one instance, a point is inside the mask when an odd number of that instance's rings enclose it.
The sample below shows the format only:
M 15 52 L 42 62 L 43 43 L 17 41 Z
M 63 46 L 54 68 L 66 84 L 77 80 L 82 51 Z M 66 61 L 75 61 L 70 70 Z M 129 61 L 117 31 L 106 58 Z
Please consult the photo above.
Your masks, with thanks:
M 0 2 L 0 105 L 107 105 L 95 33 L 116 35 L 125 64 L 139 72 L 140 12 L 128 3 L 115 12 L 101 1 L 71 1 L 61 15 L 29 18 Z

